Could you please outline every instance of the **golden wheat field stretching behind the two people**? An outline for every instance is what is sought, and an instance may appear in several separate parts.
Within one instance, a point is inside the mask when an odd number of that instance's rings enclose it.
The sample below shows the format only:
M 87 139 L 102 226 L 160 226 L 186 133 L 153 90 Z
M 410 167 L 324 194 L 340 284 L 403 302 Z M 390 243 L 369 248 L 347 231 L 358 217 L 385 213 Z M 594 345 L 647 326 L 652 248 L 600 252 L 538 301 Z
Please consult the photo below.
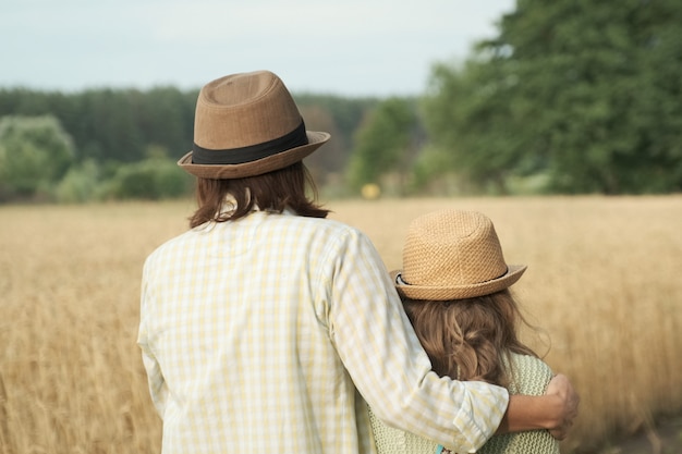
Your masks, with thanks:
M 524 338 L 582 396 L 563 453 L 682 413 L 682 196 L 330 201 L 400 267 L 414 217 L 489 216 L 540 327 Z M 0 207 L 0 453 L 158 453 L 135 345 L 144 258 L 192 201 Z

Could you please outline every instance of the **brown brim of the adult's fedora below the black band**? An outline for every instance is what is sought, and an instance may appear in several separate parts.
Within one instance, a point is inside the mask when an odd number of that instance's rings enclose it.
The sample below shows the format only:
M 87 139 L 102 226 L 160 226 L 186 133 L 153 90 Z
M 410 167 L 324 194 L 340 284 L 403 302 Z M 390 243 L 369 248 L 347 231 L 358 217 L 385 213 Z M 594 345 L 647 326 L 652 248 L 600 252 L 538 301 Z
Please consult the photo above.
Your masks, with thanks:
M 180 158 L 178 165 L 184 171 L 209 180 L 232 180 L 256 176 L 275 170 L 284 169 L 301 161 L 306 156 L 329 140 L 329 133 L 306 131 L 308 143 L 268 157 L 240 164 L 195 164 L 192 163 L 192 151 Z

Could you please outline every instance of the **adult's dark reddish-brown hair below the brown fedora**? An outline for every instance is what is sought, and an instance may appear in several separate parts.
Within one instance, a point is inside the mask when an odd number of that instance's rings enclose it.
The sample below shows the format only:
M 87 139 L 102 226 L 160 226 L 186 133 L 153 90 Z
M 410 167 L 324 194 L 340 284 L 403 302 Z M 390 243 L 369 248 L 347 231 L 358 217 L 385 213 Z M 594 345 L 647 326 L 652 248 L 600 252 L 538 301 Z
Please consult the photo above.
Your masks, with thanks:
M 223 209 L 228 195 L 235 200 L 233 211 Z M 190 218 L 191 228 L 209 221 L 234 221 L 256 207 L 280 213 L 284 208 L 290 208 L 297 214 L 309 218 L 326 218 L 329 213 L 329 210 L 317 203 L 317 187 L 303 161 L 257 176 L 233 180 L 197 179 L 196 200 L 198 208 Z

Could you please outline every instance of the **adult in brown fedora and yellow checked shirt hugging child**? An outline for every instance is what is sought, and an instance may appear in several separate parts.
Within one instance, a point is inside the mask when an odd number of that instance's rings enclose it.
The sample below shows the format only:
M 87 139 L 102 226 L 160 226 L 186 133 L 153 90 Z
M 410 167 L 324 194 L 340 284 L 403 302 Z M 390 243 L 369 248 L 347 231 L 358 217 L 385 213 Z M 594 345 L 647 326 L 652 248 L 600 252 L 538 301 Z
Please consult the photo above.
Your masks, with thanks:
M 271 72 L 199 91 L 179 161 L 198 208 L 143 271 L 138 344 L 162 452 L 372 453 L 367 403 L 468 452 L 496 430 L 564 437 L 577 410 L 564 376 L 509 397 L 431 371 L 369 240 L 306 193 L 302 159 L 328 139 Z

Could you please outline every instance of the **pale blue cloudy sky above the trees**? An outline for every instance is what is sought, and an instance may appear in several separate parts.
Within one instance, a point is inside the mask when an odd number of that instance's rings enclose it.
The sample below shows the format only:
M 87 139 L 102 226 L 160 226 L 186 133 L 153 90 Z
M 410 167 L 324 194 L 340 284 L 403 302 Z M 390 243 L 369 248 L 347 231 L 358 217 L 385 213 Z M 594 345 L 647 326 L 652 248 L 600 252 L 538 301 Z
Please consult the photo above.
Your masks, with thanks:
M 0 0 L 0 88 L 198 88 L 270 70 L 292 91 L 418 95 L 514 0 Z

